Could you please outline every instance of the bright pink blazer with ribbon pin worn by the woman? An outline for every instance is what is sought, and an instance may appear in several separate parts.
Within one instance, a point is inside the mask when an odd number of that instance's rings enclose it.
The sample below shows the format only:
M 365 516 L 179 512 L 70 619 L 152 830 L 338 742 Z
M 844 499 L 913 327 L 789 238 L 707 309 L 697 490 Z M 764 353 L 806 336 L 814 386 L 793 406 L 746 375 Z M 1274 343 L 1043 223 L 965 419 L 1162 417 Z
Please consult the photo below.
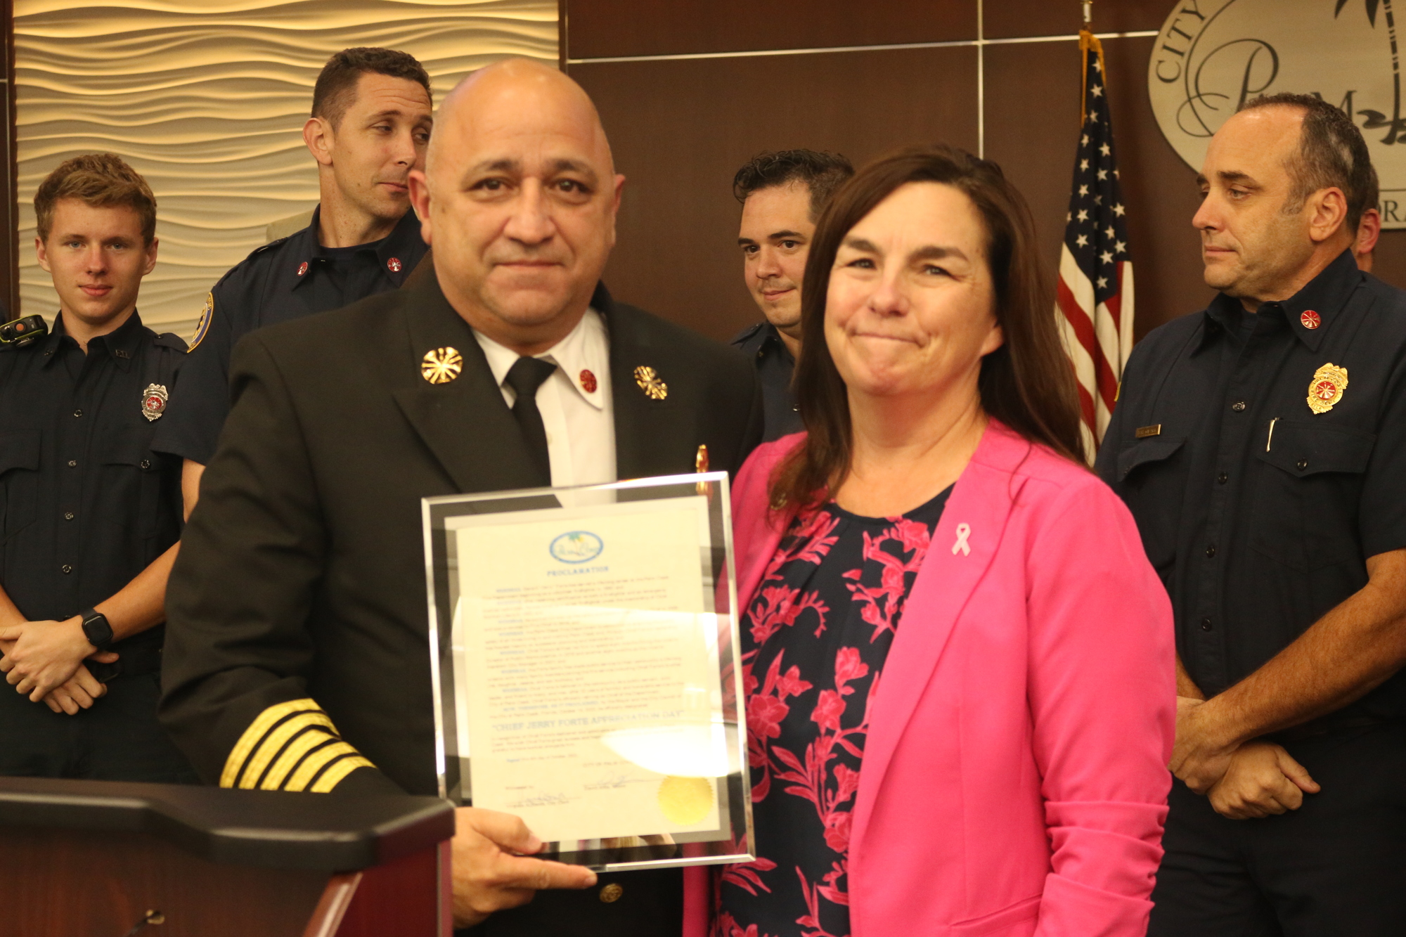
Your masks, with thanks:
M 768 478 L 799 440 L 738 476 L 738 608 L 790 523 Z M 1174 715 L 1171 608 L 1128 509 L 991 421 L 870 702 L 853 937 L 1142 937 Z M 707 875 L 686 871 L 686 937 L 706 933 Z

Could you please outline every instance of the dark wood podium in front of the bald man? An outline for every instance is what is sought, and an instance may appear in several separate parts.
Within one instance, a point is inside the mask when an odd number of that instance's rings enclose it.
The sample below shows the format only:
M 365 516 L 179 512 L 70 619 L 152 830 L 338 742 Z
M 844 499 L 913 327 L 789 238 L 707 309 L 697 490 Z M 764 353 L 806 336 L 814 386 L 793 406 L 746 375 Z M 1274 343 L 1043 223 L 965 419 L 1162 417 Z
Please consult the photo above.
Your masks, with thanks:
M 0 937 L 449 937 L 436 798 L 0 778 Z

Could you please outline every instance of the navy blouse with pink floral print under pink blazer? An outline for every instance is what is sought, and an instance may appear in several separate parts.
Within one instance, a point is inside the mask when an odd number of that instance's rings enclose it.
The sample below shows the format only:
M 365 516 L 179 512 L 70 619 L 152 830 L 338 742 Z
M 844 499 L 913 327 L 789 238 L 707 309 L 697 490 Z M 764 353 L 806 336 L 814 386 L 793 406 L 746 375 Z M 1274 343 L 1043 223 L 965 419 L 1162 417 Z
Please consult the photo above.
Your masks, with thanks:
M 756 860 L 718 875 L 714 937 L 848 937 L 869 703 L 952 488 L 901 518 L 797 514 L 742 616 Z

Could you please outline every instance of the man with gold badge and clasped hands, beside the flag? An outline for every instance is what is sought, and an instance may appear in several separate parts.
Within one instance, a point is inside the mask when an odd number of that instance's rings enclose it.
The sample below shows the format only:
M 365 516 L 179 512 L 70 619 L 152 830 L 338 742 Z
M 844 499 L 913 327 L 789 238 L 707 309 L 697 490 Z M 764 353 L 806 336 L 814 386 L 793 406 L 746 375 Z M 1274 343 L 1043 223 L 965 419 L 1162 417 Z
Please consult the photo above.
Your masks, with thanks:
M 1353 257 L 1351 118 L 1246 104 L 1201 176 L 1220 294 L 1133 350 L 1098 456 L 1177 613 L 1154 937 L 1406 923 L 1406 293 Z

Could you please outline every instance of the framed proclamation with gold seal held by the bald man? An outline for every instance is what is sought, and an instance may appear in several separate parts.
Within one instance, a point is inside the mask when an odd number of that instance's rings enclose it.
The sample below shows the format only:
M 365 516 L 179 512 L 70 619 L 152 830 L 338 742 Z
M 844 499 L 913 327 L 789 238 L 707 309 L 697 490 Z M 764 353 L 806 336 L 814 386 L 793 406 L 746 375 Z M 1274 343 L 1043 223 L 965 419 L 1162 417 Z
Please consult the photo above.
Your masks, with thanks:
M 423 515 L 440 795 L 562 862 L 751 861 L 727 473 Z

